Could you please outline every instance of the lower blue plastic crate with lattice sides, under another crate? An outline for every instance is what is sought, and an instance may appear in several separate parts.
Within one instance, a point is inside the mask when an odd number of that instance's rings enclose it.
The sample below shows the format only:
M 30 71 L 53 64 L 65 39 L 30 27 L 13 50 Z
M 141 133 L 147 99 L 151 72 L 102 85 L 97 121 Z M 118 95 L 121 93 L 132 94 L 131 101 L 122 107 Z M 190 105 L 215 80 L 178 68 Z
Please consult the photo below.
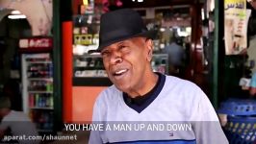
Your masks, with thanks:
M 230 144 L 256 144 L 256 117 L 228 116 L 224 132 Z

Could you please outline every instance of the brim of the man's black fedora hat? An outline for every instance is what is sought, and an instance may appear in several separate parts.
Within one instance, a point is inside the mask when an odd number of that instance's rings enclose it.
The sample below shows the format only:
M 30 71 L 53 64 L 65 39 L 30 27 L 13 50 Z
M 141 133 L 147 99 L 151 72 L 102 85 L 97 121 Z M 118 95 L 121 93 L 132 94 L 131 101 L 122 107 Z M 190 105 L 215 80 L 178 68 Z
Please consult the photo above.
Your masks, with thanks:
M 112 45 L 115 42 L 119 42 L 119 41 L 122 41 L 122 40 L 125 40 L 125 39 L 129 39 L 129 38 L 133 38 L 133 37 L 140 37 L 141 36 L 141 37 L 147 37 L 147 38 L 150 38 L 150 39 L 155 39 L 156 34 L 157 34 L 156 30 L 150 30 L 150 31 L 146 31 L 146 32 L 143 32 L 143 33 L 140 33 L 140 34 L 136 34 L 136 35 L 132 35 L 132 36 L 122 36 L 122 37 L 119 37 L 119 38 L 117 38 L 115 40 L 111 40 L 111 41 L 105 42 L 105 43 L 99 45 L 99 47 L 96 50 L 89 50 L 88 53 L 89 54 L 100 53 L 105 47 L 110 46 L 110 45 Z

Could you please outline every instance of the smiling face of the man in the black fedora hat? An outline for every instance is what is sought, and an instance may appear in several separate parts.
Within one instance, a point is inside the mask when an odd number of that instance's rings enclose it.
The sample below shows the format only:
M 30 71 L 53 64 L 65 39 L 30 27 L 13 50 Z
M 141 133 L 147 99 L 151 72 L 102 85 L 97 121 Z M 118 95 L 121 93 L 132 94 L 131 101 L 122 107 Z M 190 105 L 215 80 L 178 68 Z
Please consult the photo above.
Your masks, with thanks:
M 105 47 L 101 55 L 112 83 L 131 93 L 144 85 L 151 71 L 152 40 L 134 37 L 119 41 Z

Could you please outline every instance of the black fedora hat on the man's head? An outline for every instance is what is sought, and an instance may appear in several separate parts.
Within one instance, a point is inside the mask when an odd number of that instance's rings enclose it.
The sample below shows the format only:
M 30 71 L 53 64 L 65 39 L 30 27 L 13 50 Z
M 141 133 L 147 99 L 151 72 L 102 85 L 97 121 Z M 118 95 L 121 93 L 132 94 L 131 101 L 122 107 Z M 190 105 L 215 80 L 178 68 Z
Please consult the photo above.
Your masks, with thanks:
M 99 47 L 89 53 L 100 52 L 104 47 L 131 37 L 154 39 L 156 31 L 148 31 L 141 15 L 131 9 L 120 9 L 102 14 L 100 18 Z

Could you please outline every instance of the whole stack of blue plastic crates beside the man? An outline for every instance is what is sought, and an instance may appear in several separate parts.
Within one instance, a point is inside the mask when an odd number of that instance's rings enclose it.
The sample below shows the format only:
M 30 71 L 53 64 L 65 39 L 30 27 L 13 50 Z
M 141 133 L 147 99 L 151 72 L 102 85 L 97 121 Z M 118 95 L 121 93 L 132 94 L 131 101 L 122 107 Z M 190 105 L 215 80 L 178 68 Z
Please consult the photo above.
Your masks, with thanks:
M 230 144 L 256 144 L 256 101 L 229 99 L 218 113 L 227 114 L 224 132 Z

